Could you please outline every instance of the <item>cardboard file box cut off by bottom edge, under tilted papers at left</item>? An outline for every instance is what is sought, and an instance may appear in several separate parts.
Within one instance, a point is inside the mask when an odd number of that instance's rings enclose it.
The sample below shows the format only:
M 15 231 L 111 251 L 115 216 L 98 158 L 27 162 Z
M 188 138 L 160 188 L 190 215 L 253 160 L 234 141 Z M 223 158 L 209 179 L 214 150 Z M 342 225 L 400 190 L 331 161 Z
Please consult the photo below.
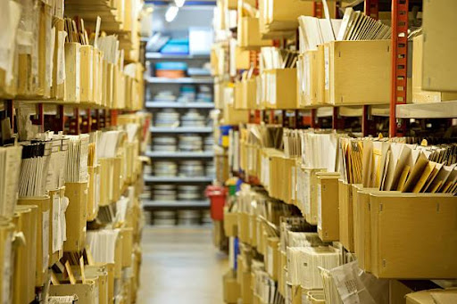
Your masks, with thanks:
M 86 283 L 78 281 L 76 284 L 70 282 L 49 286 L 50 296 L 71 296 L 76 294 L 79 303 L 96 304 L 98 299 L 98 285 L 96 280 L 87 280 Z

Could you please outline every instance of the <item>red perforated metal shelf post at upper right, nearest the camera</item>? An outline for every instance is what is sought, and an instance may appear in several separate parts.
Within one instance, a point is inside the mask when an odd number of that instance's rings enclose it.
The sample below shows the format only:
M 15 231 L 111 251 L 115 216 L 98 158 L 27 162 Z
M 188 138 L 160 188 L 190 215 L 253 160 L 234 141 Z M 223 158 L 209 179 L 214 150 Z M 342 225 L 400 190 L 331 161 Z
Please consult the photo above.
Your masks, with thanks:
M 404 134 L 404 124 L 397 126 L 396 105 L 406 103 L 408 2 L 408 0 L 392 1 L 392 86 L 389 116 L 389 136 L 391 137 Z

